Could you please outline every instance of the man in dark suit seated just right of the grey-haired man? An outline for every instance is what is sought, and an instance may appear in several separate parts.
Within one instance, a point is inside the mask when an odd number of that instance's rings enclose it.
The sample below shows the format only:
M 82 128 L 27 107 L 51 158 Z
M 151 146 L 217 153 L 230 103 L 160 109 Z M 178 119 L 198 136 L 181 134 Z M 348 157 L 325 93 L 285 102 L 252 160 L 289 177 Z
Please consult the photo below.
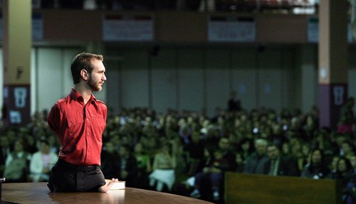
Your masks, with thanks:
M 267 146 L 267 156 L 268 161 L 263 168 L 264 174 L 270 176 L 298 176 L 296 161 L 281 156 L 276 144 Z

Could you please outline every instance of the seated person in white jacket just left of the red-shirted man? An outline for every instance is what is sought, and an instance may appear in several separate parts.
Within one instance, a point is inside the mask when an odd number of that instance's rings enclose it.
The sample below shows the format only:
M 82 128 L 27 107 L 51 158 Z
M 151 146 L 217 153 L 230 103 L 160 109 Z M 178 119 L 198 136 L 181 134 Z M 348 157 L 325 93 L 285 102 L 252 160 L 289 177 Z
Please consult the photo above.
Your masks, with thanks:
M 58 155 L 51 152 L 48 141 L 40 141 L 40 149 L 32 155 L 30 161 L 30 177 L 33 182 L 48 181 L 52 167 L 56 164 Z

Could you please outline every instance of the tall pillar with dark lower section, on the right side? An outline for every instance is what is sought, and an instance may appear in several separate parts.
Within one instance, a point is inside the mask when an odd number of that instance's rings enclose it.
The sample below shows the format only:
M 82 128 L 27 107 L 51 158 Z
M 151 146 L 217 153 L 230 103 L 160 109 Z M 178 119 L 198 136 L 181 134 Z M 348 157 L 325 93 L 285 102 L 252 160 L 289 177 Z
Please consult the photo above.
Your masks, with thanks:
M 347 100 L 347 0 L 320 1 L 320 127 L 335 129 Z

